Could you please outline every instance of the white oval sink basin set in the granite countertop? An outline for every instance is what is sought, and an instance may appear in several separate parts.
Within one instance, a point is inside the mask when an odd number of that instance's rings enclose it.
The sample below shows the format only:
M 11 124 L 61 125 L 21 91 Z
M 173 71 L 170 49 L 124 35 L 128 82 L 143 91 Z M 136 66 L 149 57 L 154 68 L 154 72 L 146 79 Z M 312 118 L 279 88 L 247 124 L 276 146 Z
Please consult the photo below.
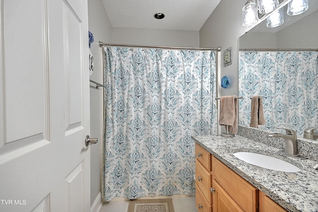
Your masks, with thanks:
M 278 159 L 276 157 L 271 157 L 264 154 L 253 153 L 253 152 L 245 152 L 240 151 L 234 153 L 234 156 L 237 158 L 267 169 L 272 169 L 276 171 L 285 171 L 285 172 L 298 172 L 301 171 L 297 166 L 286 162 L 285 160 Z

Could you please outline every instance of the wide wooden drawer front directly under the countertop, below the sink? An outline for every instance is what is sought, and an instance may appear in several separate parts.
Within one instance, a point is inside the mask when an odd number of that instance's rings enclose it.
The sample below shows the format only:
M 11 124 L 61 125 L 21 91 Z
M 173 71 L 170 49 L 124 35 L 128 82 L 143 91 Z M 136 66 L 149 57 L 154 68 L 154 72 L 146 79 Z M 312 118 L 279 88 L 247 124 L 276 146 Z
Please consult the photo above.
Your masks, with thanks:
M 228 192 L 245 212 L 256 212 L 258 189 L 215 157 L 212 157 L 212 165 L 213 179 Z

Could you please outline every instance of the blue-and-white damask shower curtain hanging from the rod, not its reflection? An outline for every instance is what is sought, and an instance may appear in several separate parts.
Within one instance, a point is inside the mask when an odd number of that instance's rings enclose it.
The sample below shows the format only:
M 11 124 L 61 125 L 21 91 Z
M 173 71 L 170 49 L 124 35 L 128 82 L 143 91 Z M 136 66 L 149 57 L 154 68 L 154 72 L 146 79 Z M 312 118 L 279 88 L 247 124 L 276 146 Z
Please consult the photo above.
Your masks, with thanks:
M 191 136 L 217 133 L 215 52 L 104 50 L 104 201 L 195 193 Z

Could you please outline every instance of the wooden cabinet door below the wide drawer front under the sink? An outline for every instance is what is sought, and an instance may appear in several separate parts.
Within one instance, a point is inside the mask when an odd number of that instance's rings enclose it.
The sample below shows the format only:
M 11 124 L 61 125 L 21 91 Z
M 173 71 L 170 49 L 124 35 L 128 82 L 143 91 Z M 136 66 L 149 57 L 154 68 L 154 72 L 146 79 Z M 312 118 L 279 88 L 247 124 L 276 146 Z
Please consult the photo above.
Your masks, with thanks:
M 215 179 L 213 187 L 213 212 L 244 212 Z

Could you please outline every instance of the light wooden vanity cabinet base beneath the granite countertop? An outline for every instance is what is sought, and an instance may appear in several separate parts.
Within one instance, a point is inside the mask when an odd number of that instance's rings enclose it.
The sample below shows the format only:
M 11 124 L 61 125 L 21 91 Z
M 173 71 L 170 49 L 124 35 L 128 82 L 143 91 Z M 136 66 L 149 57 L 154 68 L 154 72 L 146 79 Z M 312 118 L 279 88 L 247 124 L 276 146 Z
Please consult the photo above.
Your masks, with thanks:
M 287 212 L 198 143 L 195 155 L 198 212 Z

